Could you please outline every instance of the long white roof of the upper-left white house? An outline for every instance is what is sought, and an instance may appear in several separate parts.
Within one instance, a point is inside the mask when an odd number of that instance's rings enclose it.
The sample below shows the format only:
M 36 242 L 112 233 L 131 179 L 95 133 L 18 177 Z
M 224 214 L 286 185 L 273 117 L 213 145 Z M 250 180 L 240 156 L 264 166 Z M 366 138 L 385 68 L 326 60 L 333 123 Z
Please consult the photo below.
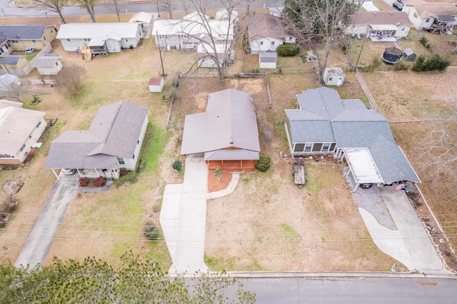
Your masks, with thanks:
M 138 33 L 138 22 L 116 22 L 116 23 L 74 23 L 62 24 L 57 39 L 92 39 L 104 38 L 119 40 L 120 38 L 134 38 Z

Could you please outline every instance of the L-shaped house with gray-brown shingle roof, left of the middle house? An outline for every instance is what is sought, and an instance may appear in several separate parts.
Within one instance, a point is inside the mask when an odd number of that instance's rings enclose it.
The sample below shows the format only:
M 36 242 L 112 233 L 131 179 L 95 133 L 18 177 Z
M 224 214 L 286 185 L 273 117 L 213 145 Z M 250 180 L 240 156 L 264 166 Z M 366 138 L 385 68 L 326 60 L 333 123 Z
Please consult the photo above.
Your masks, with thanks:
M 81 177 L 94 171 L 109 178 L 119 178 L 120 168 L 134 170 L 147 111 L 126 101 L 99 108 L 88 131 L 66 131 L 51 143 L 45 168 L 76 168 Z

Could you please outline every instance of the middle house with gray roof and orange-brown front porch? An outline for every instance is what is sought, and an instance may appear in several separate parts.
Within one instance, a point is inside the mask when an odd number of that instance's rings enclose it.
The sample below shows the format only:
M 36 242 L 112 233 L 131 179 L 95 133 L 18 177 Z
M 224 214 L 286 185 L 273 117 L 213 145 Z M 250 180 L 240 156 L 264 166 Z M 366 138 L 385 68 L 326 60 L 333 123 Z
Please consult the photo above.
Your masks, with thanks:
M 204 153 L 209 168 L 255 168 L 260 143 L 251 94 L 211 93 L 206 112 L 186 115 L 181 155 Z

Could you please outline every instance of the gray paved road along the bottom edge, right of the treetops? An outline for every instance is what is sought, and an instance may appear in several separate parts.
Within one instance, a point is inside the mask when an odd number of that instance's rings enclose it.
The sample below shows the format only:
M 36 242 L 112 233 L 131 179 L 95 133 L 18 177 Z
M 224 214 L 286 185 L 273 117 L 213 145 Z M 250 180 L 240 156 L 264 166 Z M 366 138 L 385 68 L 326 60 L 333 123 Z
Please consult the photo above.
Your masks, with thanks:
M 259 304 L 455 304 L 457 281 L 435 278 L 241 278 Z

